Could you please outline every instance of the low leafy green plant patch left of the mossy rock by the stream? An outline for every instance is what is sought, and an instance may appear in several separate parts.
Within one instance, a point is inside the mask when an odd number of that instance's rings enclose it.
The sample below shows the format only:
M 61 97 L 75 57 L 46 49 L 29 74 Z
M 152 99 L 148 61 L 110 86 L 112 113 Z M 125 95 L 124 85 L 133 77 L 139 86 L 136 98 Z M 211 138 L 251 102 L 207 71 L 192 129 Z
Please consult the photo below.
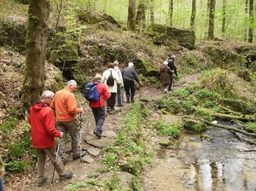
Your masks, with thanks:
M 155 121 L 153 127 L 158 130 L 161 136 L 179 136 L 180 132 L 177 125 L 166 124 L 163 121 Z

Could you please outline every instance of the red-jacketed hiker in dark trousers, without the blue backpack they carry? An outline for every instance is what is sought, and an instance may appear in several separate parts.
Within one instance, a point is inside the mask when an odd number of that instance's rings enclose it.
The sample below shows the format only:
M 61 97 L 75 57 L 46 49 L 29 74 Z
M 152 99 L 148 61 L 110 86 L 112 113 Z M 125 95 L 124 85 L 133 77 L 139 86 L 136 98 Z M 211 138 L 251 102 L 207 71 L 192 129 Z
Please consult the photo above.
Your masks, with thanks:
M 90 101 L 90 108 L 93 113 L 96 128 L 93 130 L 93 133 L 96 134 L 97 137 L 102 137 L 102 126 L 105 121 L 106 113 L 105 113 L 105 103 L 104 99 L 109 99 L 111 94 L 108 92 L 108 88 L 106 84 L 103 84 L 101 79 L 101 74 L 96 74 L 96 81 L 94 82 L 99 90 L 100 99 L 98 101 Z

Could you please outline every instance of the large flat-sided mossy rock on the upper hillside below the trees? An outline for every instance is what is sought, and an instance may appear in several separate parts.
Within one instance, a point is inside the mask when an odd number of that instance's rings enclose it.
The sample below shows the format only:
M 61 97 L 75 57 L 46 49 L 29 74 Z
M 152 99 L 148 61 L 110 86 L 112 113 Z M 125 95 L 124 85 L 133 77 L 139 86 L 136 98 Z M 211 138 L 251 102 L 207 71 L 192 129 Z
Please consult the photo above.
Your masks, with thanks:
M 173 48 L 176 45 L 187 49 L 194 49 L 195 32 L 182 30 L 170 26 L 152 25 L 148 28 L 148 36 L 156 44 L 163 44 Z

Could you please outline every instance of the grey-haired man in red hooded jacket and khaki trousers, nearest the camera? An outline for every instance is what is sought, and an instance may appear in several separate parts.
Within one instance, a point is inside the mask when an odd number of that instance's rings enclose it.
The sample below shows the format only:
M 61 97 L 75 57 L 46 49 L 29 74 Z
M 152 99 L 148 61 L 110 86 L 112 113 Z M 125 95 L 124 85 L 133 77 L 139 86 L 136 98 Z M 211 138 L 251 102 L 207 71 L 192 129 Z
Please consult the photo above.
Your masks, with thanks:
M 44 177 L 46 155 L 55 166 L 61 181 L 73 176 L 73 171 L 66 171 L 61 158 L 55 151 L 55 137 L 63 133 L 55 129 L 55 116 L 49 107 L 55 94 L 46 90 L 41 101 L 35 101 L 30 108 L 29 124 L 31 125 L 32 145 L 38 153 L 38 187 L 42 187 L 47 177 Z

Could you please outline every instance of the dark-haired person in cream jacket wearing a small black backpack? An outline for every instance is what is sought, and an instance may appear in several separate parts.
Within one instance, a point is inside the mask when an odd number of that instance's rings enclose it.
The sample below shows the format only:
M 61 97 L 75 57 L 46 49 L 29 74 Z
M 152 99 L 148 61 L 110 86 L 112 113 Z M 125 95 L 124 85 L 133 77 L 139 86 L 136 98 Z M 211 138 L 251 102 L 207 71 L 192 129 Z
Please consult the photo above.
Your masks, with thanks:
M 108 77 L 110 76 L 110 72 L 112 72 L 114 83 L 113 86 L 107 84 Z M 121 84 L 119 79 L 119 74 L 113 69 L 113 63 L 108 63 L 108 70 L 105 70 L 102 74 L 102 83 L 107 85 L 108 92 L 111 94 L 110 98 L 107 100 L 107 109 L 108 112 L 114 111 L 115 104 L 115 96 L 117 93 L 117 84 Z

